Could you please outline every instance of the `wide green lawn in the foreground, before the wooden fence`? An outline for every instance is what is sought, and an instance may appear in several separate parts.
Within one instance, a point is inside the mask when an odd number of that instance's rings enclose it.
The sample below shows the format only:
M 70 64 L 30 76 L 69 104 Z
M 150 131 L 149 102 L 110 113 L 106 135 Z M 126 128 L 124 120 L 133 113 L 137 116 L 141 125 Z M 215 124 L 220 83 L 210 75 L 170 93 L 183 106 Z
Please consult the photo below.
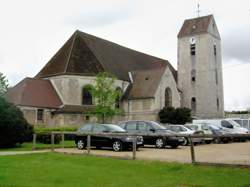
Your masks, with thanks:
M 57 153 L 1 156 L 1 187 L 249 187 L 250 170 Z

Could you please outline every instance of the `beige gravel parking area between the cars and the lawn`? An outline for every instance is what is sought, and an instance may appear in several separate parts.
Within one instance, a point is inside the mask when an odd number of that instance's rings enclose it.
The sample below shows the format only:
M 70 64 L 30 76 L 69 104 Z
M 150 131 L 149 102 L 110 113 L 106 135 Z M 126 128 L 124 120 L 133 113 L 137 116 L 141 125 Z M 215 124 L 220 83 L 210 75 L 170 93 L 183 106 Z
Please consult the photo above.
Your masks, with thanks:
M 76 148 L 56 149 L 55 151 L 68 154 L 87 153 L 86 150 Z M 132 151 L 114 152 L 108 149 L 91 149 L 90 153 L 97 156 L 132 158 Z M 195 157 L 197 162 L 250 165 L 250 142 L 197 145 L 195 146 Z M 177 149 L 145 147 L 136 152 L 136 158 L 181 163 L 191 162 L 189 146 L 180 146 Z

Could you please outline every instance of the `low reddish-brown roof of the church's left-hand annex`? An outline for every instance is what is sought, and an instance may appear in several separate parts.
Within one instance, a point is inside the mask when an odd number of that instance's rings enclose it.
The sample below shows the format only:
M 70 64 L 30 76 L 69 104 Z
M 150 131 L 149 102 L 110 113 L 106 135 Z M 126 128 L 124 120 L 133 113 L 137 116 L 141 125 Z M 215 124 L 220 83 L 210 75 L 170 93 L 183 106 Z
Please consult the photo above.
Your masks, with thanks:
M 25 78 L 8 90 L 6 99 L 19 106 L 59 108 L 62 102 L 49 80 Z

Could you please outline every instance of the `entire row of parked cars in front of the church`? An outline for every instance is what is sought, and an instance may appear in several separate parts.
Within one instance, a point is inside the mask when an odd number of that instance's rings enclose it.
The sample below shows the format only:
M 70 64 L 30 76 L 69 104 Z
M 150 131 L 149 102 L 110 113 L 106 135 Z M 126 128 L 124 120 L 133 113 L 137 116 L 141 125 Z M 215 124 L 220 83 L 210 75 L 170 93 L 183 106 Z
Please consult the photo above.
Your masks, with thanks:
M 179 145 L 188 145 L 190 143 L 187 137 L 176 137 L 175 134 L 184 136 L 192 134 L 224 135 L 248 133 L 248 130 L 237 124 L 232 125 L 232 123 L 228 123 L 228 120 L 213 122 L 194 120 L 192 124 L 186 125 L 167 125 L 154 121 L 132 120 L 118 124 L 86 124 L 78 130 L 79 135 L 76 136 L 75 143 L 78 149 L 84 149 L 87 146 L 87 135 L 83 134 L 99 133 L 91 136 L 91 146 L 97 148 L 111 147 L 114 151 L 131 149 L 134 138 L 122 135 L 126 132 L 143 134 L 143 136 L 137 136 L 136 138 L 136 147 L 138 149 L 144 145 L 153 145 L 156 148 L 166 146 L 177 148 Z M 102 135 L 101 133 L 109 133 L 109 135 Z M 194 145 L 212 142 L 228 143 L 232 140 L 230 137 L 192 139 Z

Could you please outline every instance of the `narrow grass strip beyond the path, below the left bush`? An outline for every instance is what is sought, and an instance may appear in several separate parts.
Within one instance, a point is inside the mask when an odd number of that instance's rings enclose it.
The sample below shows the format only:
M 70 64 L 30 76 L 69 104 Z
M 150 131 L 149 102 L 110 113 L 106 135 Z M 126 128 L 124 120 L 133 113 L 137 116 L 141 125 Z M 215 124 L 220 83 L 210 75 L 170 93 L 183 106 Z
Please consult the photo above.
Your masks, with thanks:
M 6 149 L 0 149 L 0 151 L 31 151 L 32 150 L 33 143 L 32 142 L 25 142 L 21 145 L 17 145 L 14 148 L 6 148 Z M 62 147 L 62 143 L 55 144 L 55 148 Z M 73 140 L 65 140 L 64 141 L 64 147 L 75 147 L 75 142 Z M 36 149 L 49 149 L 51 148 L 51 144 L 42 144 L 42 143 L 36 143 Z M 1 186 L 0 186 L 1 187 Z

